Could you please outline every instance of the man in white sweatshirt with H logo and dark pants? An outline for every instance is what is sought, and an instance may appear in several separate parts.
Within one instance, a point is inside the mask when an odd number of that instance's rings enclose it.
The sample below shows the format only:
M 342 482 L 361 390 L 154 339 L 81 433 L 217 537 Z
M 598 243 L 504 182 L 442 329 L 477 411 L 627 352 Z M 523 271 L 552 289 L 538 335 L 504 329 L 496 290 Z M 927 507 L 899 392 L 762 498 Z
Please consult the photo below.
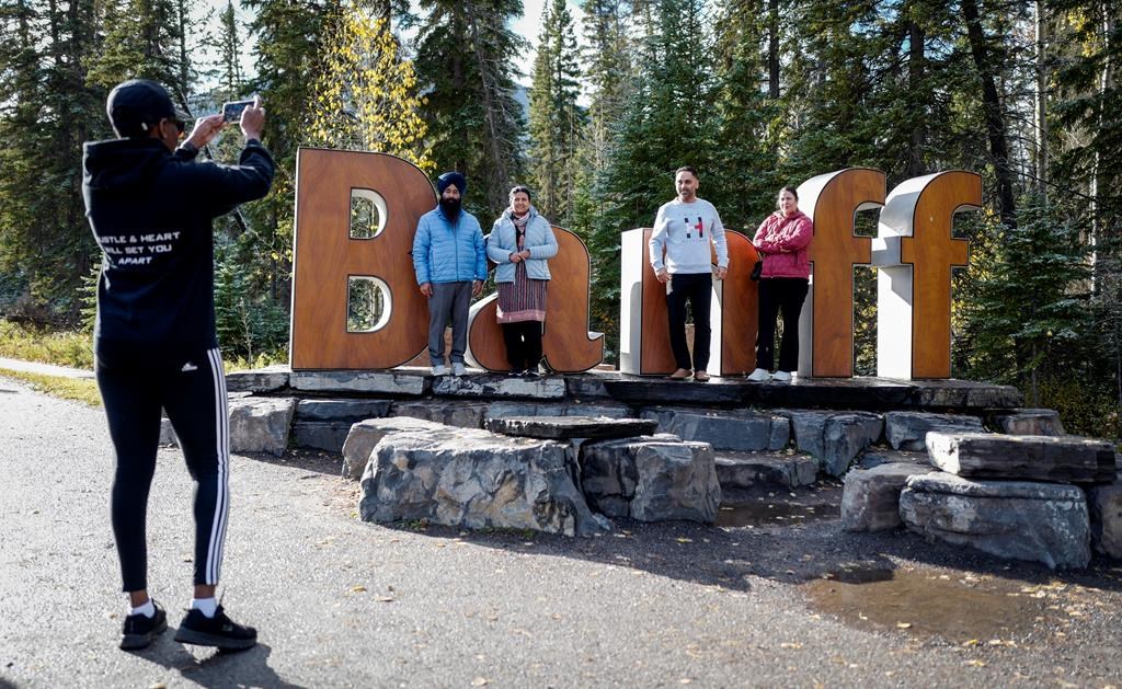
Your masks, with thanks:
M 709 305 L 712 294 L 712 260 L 709 245 L 717 250 L 717 279 L 728 273 L 728 245 L 725 226 L 717 209 L 698 199 L 698 173 L 690 166 L 674 172 L 678 197 L 662 204 L 651 233 L 651 266 L 659 282 L 666 285 L 666 311 L 670 316 L 670 348 L 678 369 L 673 380 L 693 376 L 708 380 Z M 665 251 L 665 257 L 663 256 Z M 686 344 L 686 302 L 693 312 L 693 358 Z

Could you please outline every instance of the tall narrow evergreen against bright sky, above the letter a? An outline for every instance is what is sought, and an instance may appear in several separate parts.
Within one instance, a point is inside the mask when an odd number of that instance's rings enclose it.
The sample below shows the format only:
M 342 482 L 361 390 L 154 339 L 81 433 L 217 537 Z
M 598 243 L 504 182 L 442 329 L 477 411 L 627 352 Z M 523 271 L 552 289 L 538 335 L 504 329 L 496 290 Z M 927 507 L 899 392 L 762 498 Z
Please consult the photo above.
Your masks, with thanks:
M 578 146 L 585 118 L 577 105 L 577 36 L 565 0 L 545 8 L 530 92 L 531 186 L 537 210 L 568 224 L 573 212 Z

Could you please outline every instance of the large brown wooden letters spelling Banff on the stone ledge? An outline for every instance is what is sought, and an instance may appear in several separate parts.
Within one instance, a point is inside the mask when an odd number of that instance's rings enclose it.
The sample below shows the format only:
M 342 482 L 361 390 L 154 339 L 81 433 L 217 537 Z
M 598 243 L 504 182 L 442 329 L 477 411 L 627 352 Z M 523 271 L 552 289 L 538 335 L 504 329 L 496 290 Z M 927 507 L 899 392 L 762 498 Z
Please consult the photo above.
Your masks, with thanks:
M 954 215 L 982 205 L 982 180 L 942 172 L 902 182 L 885 193 L 884 173 L 847 168 L 799 185 L 799 208 L 815 223 L 810 292 L 800 321 L 800 377 L 853 376 L 854 266 L 877 270 L 877 375 L 950 377 L 951 270 L 967 265 L 967 241 L 951 238 Z M 351 236 L 352 199 L 377 210 L 370 238 Z M 293 267 L 293 370 L 388 369 L 427 348 L 427 300 L 417 290 L 410 251 L 420 217 L 436 204 L 432 183 L 401 158 L 377 153 L 302 148 L 296 163 Z M 880 209 L 877 237 L 855 235 L 858 211 Z M 487 227 L 489 219 L 481 219 Z M 666 329 L 665 285 L 647 256 L 650 229 L 622 236 L 619 370 L 665 375 L 674 367 Z M 585 244 L 554 227 L 542 340 L 549 366 L 579 373 L 604 359 L 604 336 L 589 332 L 591 264 Z M 727 231 L 729 272 L 715 281 L 709 373 L 739 376 L 755 368 L 756 260 L 751 236 Z M 356 279 L 383 293 L 369 330 L 348 330 Z M 496 295 L 471 306 L 468 361 L 507 370 L 496 322 Z

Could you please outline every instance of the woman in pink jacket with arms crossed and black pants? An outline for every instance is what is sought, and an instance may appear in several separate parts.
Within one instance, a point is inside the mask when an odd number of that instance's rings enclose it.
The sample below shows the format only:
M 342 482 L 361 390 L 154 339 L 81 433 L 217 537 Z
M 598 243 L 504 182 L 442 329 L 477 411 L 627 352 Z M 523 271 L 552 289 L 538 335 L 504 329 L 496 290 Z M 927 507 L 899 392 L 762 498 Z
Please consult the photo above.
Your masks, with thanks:
M 799 368 L 799 313 L 807 298 L 810 260 L 807 248 L 815 236 L 813 223 L 799 210 L 799 194 L 784 186 L 776 201 L 779 210 L 756 230 L 752 244 L 764 261 L 760 274 L 760 327 L 756 334 L 756 369 L 748 380 L 789 382 Z M 775 358 L 775 316 L 783 314 L 783 339 L 779 367 L 769 371 Z

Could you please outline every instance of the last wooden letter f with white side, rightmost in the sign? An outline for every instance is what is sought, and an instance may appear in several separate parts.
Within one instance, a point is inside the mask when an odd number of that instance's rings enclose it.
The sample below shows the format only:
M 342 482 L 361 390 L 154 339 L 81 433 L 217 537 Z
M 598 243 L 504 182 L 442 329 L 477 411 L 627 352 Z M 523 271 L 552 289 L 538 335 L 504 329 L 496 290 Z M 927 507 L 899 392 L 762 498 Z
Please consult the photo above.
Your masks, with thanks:
M 968 260 L 951 221 L 981 205 L 982 177 L 959 171 L 907 180 L 889 194 L 874 242 L 879 376 L 950 377 L 950 272 Z

